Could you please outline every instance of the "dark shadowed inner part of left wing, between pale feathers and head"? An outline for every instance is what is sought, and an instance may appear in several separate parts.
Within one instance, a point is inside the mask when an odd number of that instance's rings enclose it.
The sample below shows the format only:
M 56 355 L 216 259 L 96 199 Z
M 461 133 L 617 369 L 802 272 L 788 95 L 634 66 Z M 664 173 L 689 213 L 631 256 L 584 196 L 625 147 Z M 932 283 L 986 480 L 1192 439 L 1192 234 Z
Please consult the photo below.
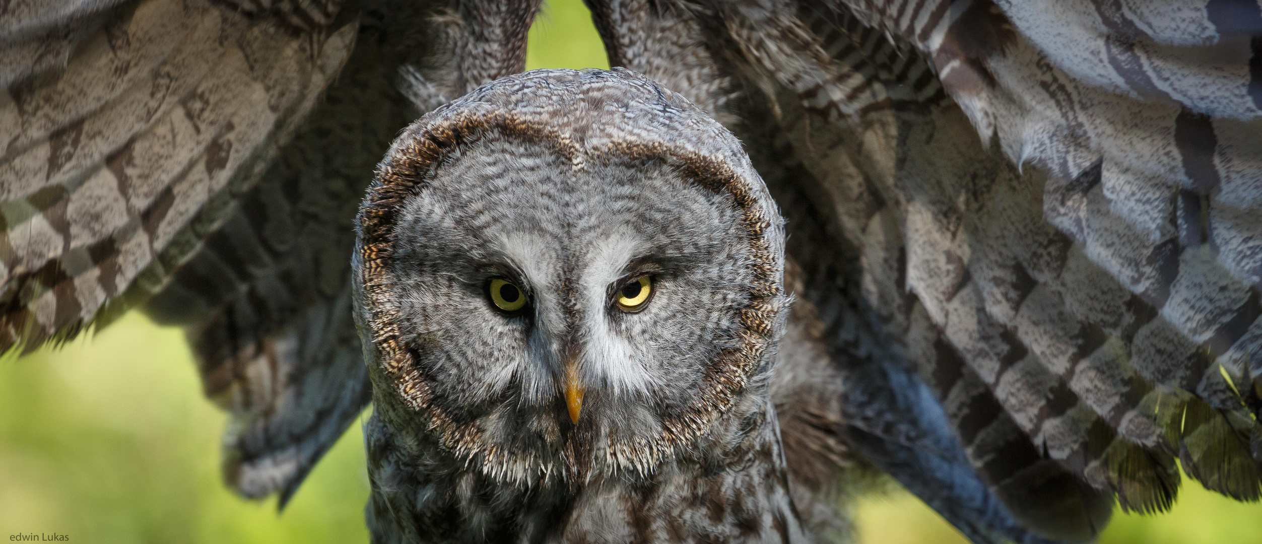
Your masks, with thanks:
M 221 191 L 237 194 L 203 206 L 175 234 L 159 256 L 168 269 L 179 266 L 169 281 L 138 283 L 124 297 L 148 299 L 154 319 L 184 327 L 207 396 L 231 417 L 225 480 L 247 497 L 279 494 L 281 507 L 370 400 L 350 256 L 374 168 L 425 109 L 482 83 L 462 81 L 467 72 L 453 66 L 495 77 L 525 61 L 510 54 L 500 66 L 495 56 L 453 54 L 443 47 L 452 40 L 478 45 L 461 30 L 477 25 L 448 27 L 452 14 L 442 6 L 387 8 L 362 14 L 347 68 L 275 160 L 257 163 L 266 167 L 260 182 Z M 529 25 L 500 20 L 520 25 L 504 35 L 510 43 L 524 40 Z

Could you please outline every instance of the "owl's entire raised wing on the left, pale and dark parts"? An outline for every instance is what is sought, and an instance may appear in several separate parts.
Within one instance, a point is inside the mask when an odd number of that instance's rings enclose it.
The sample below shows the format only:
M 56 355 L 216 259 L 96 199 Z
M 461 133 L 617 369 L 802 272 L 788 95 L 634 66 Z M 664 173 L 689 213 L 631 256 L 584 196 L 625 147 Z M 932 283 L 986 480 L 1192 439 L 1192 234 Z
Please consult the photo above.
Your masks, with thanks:
M 370 399 L 347 274 L 374 165 L 521 71 L 538 9 L 341 4 L 0 8 L 0 351 L 136 305 L 184 327 L 228 485 L 281 505 Z

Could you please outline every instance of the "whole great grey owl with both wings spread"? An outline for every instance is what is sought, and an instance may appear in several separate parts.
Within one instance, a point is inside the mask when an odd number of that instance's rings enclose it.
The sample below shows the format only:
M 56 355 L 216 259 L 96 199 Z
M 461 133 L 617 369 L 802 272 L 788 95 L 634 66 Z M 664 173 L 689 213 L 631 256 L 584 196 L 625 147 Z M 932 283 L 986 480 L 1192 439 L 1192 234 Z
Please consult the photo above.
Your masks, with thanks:
M 587 4 L 4 4 L 0 348 L 184 326 L 252 497 L 372 400 L 377 541 L 1259 497 L 1256 1 Z

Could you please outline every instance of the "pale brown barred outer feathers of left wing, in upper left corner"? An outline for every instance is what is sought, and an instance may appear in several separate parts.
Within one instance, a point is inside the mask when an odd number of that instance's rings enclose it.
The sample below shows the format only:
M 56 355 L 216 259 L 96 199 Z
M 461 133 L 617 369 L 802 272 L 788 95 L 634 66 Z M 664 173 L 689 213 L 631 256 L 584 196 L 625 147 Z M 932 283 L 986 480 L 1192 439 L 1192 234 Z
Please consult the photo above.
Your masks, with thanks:
M 158 256 L 182 232 L 203 237 L 221 220 L 207 204 L 257 179 L 341 69 L 357 28 L 310 39 L 199 0 L 64 8 L 37 10 L 53 19 L 27 27 L 95 30 L 62 66 L 8 71 L 21 82 L 0 101 L 0 348 L 72 334 L 140 274 L 169 274 L 183 255 Z M 209 225 L 189 232 L 194 217 Z

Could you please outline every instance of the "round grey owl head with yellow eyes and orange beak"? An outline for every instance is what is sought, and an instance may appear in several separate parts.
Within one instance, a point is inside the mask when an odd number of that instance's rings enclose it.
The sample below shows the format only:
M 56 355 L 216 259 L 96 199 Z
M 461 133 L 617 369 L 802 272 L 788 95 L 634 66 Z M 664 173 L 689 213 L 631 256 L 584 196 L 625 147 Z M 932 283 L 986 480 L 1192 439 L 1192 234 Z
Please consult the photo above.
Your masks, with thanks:
M 740 141 L 644 76 L 534 71 L 439 107 L 357 221 L 375 418 L 411 449 L 520 485 L 774 435 L 782 221 Z

